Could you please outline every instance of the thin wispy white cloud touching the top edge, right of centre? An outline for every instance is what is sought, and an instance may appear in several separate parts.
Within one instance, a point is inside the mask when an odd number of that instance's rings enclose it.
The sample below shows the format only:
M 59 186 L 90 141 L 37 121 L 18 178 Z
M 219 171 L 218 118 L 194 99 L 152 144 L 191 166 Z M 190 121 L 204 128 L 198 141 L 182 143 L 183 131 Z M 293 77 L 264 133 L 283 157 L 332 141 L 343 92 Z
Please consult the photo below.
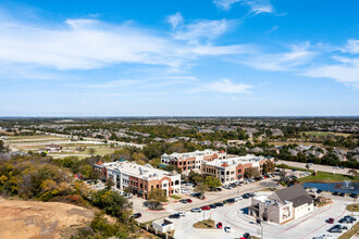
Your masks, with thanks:
M 234 3 L 240 2 L 243 5 L 248 7 L 249 12 L 255 15 L 274 12 L 274 9 L 269 0 L 213 0 L 213 2 L 218 8 L 224 10 L 230 10 Z

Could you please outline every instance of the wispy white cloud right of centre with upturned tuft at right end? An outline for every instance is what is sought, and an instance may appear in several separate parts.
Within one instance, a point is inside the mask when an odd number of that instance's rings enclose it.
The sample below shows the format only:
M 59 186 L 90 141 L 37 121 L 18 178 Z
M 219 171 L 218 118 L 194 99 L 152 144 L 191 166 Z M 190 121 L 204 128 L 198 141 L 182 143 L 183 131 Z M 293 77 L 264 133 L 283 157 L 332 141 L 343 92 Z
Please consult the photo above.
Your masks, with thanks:
M 255 68 L 264 71 L 289 71 L 295 66 L 307 64 L 315 52 L 309 50 L 309 42 L 304 45 L 292 45 L 289 52 L 273 53 L 273 54 L 257 54 L 251 55 L 239 62 Z

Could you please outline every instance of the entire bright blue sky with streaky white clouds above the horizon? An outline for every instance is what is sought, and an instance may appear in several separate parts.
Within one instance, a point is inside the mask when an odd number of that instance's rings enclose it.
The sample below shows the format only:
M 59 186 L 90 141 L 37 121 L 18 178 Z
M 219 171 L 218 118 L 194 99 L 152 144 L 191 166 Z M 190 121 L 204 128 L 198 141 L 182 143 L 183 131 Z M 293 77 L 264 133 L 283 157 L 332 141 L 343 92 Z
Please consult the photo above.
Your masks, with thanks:
M 0 116 L 359 115 L 354 0 L 0 0 Z

